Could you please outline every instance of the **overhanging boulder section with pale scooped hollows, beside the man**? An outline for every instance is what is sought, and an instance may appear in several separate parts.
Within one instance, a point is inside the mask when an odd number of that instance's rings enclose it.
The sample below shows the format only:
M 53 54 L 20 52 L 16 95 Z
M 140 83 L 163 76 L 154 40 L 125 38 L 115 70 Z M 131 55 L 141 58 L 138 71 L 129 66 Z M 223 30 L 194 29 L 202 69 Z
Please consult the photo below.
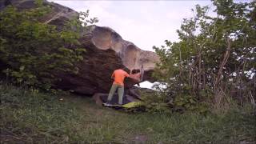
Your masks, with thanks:
M 90 32 L 84 35 L 82 44 L 86 47 L 86 57 L 79 64 L 78 75 L 64 74 L 58 84 L 65 89 L 72 89 L 80 94 L 106 93 L 112 84 L 111 74 L 122 67 L 145 70 L 143 80 L 154 81 L 150 77 L 154 62 L 158 57 L 154 52 L 139 49 L 132 42 L 127 42 L 108 27 L 91 26 Z M 134 85 L 126 79 L 126 89 Z

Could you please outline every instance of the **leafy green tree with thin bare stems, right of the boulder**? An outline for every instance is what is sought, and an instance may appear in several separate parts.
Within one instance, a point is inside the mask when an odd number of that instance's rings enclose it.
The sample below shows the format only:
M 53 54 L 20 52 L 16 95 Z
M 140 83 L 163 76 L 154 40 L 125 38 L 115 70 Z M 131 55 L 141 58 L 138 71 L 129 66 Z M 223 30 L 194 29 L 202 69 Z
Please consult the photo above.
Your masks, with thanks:
M 220 107 L 231 103 L 228 96 L 255 99 L 255 2 L 213 3 L 216 17 L 208 6 L 197 5 L 194 18 L 185 18 L 177 30 L 180 42 L 154 46 L 161 60 L 154 76 L 166 82 L 164 92 L 174 106 L 187 109 L 213 99 Z

